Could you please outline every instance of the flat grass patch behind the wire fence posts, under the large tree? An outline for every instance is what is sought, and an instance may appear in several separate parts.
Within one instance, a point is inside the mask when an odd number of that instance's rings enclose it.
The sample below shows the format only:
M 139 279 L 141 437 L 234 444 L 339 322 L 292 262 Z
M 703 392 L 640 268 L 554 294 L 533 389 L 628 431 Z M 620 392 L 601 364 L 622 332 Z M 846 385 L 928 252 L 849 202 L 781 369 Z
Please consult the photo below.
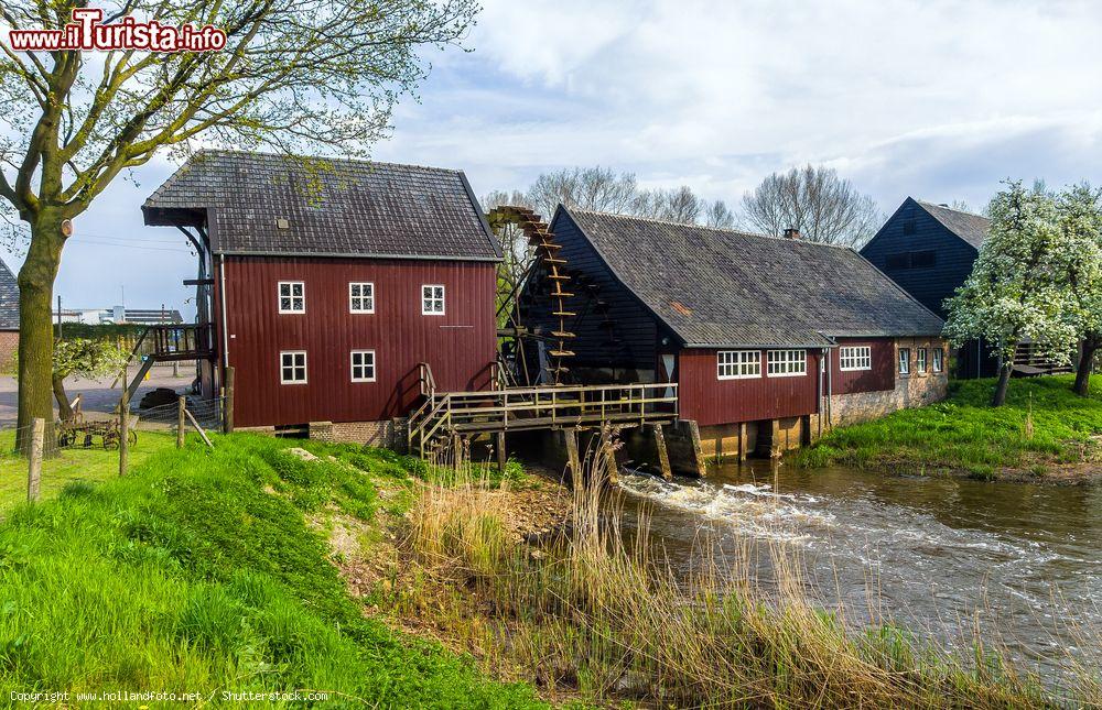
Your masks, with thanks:
M 175 446 L 175 435 L 140 432 L 138 446 L 130 449 L 130 465 L 139 466 L 153 454 Z M 15 432 L 0 432 L 0 517 L 26 500 L 26 459 L 17 455 Z M 42 462 L 39 492 L 42 500 L 56 498 L 69 483 L 99 483 L 119 476 L 119 452 L 106 451 L 96 438 L 87 449 L 63 449 Z

